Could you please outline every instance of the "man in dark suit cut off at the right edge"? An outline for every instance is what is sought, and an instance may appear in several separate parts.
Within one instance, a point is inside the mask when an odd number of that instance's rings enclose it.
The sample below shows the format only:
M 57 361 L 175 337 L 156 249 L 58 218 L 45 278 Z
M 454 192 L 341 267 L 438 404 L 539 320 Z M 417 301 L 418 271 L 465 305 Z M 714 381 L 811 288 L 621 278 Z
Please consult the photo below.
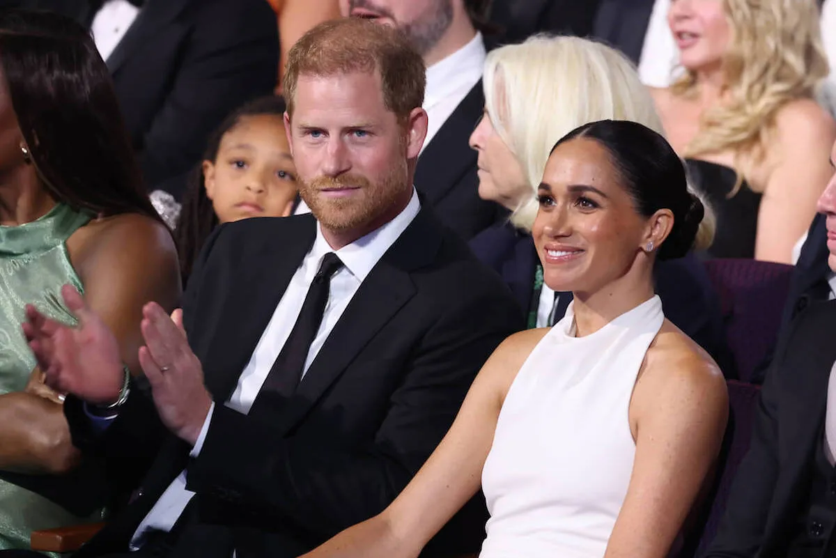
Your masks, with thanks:
M 836 242 L 830 240 L 836 238 L 836 177 L 818 210 L 828 266 L 836 271 Z M 818 242 L 818 235 L 810 241 Z M 808 558 L 836 551 L 836 302 L 827 298 L 802 303 L 803 312 L 778 341 L 752 445 L 707 553 L 711 558 Z

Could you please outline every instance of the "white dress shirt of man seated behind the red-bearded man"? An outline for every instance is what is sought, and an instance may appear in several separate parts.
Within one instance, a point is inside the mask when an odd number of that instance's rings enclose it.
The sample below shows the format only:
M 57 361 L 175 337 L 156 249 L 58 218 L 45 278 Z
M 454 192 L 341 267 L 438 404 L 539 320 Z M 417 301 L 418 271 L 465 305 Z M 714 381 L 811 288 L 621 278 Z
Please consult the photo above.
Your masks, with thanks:
M 430 123 L 421 150 L 436 137 L 436 133 L 456 107 L 482 79 L 486 56 L 482 33 L 477 33 L 470 43 L 426 68 L 424 110 Z M 473 127 L 476 127 L 475 123 Z

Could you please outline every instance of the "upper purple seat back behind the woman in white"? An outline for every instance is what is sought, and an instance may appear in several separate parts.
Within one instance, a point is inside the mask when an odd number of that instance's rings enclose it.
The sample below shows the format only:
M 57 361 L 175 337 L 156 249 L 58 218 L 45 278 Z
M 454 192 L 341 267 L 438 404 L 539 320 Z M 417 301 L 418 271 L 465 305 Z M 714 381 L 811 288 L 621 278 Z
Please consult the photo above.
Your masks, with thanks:
M 757 260 L 709 260 L 706 271 L 720 296 L 726 342 L 743 382 L 777 341 L 793 266 Z

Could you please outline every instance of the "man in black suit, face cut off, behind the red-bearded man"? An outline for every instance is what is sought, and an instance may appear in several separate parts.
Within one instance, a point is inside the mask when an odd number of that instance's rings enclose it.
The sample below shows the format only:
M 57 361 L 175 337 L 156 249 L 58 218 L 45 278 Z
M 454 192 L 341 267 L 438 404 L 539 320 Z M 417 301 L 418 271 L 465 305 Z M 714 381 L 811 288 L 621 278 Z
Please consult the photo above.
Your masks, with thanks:
M 400 28 L 426 64 L 426 142 L 415 188 L 446 226 L 469 240 L 501 218 L 478 195 L 477 154 L 467 144 L 482 118 L 485 0 L 340 0 L 344 15 Z

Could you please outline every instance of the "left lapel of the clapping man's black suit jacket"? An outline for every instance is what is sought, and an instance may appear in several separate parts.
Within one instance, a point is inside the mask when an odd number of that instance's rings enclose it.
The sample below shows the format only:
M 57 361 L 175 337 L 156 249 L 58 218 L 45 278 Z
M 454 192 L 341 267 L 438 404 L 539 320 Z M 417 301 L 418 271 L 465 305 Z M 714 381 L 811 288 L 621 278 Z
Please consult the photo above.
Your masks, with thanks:
M 293 274 L 314 245 L 313 217 L 287 219 L 290 230 L 283 237 L 290 241 L 269 245 L 270 249 L 233 271 L 221 322 L 206 339 L 211 343 L 206 358 L 201 358 L 206 387 L 219 401 L 226 401 L 232 394 Z M 292 224 L 291 219 L 296 222 Z M 236 340 L 234 350 L 228 344 L 232 340 Z

